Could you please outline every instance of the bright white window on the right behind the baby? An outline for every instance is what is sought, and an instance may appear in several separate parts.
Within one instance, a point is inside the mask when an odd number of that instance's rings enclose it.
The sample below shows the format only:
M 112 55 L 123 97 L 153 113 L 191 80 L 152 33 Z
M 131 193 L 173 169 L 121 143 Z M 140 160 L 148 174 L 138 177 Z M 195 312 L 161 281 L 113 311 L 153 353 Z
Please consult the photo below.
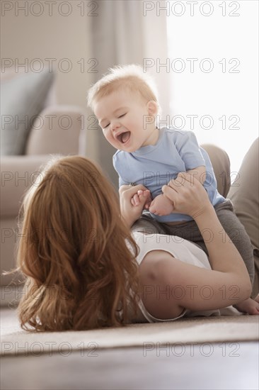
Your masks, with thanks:
M 258 1 L 162 3 L 171 100 L 161 118 L 223 147 L 237 172 L 258 137 Z

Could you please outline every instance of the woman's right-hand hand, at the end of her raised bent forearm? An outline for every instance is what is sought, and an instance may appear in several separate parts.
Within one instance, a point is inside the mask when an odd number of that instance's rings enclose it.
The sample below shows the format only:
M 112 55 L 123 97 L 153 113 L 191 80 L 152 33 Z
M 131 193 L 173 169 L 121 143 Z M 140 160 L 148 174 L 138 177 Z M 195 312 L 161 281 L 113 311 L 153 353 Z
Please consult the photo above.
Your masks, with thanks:
M 173 213 L 188 214 L 196 218 L 212 204 L 205 188 L 188 172 L 180 172 L 178 177 L 162 187 L 163 194 L 173 204 Z

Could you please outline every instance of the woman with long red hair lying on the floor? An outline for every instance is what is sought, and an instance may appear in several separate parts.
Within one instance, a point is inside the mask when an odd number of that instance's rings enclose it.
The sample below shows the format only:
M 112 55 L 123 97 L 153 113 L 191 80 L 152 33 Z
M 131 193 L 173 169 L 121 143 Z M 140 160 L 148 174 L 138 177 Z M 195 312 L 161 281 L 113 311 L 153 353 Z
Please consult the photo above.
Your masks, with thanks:
M 18 306 L 22 328 L 83 330 L 166 321 L 215 313 L 234 303 L 258 313 L 258 299 L 249 298 L 246 266 L 226 235 L 222 240 L 207 192 L 197 180 L 183 179 L 181 186 L 177 179 L 164 186 L 163 193 L 175 212 L 189 213 L 201 232 L 209 232 L 209 261 L 185 240 L 173 246 L 169 237 L 164 249 L 164 244 L 154 245 L 154 234 L 133 231 L 132 237 L 129 228 L 142 213 L 144 187 L 139 186 L 139 205 L 131 204 L 136 187 L 129 187 L 120 194 L 119 206 L 115 190 L 90 160 L 71 156 L 50 162 L 23 201 L 18 245 L 18 269 L 25 275 Z

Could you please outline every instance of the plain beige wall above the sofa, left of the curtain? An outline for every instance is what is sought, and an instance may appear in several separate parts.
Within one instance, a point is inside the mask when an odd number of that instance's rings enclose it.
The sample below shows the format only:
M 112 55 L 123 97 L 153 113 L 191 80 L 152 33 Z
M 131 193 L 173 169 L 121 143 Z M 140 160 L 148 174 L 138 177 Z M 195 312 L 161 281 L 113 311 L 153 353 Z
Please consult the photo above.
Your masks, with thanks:
M 43 62 L 50 69 L 53 65 L 57 103 L 85 108 L 94 65 L 92 14 L 86 1 L 1 1 L 1 71 L 8 63 L 25 64 L 26 71 L 38 71 Z M 88 157 L 96 160 L 93 133 L 87 133 L 86 144 Z

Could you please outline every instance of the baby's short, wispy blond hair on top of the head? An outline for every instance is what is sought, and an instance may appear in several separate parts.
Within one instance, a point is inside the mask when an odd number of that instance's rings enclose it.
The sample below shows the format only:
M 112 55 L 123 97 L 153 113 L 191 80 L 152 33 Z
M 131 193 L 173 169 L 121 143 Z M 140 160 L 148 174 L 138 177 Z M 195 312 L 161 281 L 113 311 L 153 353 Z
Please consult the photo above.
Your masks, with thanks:
M 117 65 L 109 68 L 108 72 L 91 86 L 88 91 L 88 106 L 94 111 L 96 102 L 122 88 L 137 92 L 147 102 L 156 101 L 159 106 L 158 92 L 154 80 L 145 74 L 139 65 Z

